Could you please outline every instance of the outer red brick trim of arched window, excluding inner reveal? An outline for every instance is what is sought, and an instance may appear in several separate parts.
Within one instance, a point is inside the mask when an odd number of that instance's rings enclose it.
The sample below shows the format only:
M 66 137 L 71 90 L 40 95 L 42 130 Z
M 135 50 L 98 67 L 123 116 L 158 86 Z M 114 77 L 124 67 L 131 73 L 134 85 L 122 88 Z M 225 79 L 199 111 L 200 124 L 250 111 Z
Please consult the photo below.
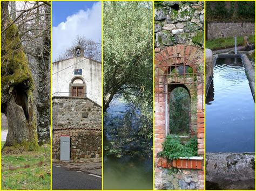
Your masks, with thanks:
M 166 47 L 162 51 L 159 48 L 155 48 L 155 57 L 154 63 L 155 66 L 171 66 L 175 63 L 186 63 L 187 60 L 193 61 L 197 66 L 204 66 L 204 54 L 203 52 L 193 46 L 188 45 L 176 45 Z M 174 58 L 179 57 L 180 59 Z M 186 59 L 183 59 L 186 58 Z M 174 58 L 174 59 L 173 59 Z M 170 59 L 170 60 L 169 60 Z M 189 64 L 189 63 L 187 63 Z M 166 71 L 161 70 L 158 67 L 155 67 L 155 73 L 164 74 Z M 203 80 L 203 79 L 200 79 Z M 155 81 L 163 82 L 164 79 L 161 76 L 156 76 Z M 156 83 L 155 83 L 156 84 Z M 198 154 L 204 155 L 204 109 L 202 108 L 202 95 L 203 94 L 203 83 L 198 84 L 197 86 L 197 138 L 198 138 Z M 165 140 L 165 95 L 164 86 L 156 86 L 154 95 L 154 158 L 157 167 L 176 167 L 176 168 L 188 168 L 188 169 L 203 169 L 204 159 L 203 160 L 194 160 L 194 159 L 177 159 L 171 162 L 167 162 L 166 159 L 158 158 L 157 153 L 163 150 L 162 143 Z M 194 132 L 195 133 L 195 132 Z M 166 160 L 166 161 L 165 161 Z

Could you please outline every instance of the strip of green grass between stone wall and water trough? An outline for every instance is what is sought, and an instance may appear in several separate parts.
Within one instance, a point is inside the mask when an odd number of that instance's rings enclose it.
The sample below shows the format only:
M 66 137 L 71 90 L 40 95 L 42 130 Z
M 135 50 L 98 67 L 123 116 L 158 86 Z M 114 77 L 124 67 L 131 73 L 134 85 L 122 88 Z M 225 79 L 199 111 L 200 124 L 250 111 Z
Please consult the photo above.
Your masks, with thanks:
M 253 35 L 249 36 L 250 43 L 254 43 L 254 39 L 255 38 Z M 237 37 L 238 46 L 242 45 L 243 40 L 244 40 L 243 36 Z M 209 48 L 212 51 L 217 50 L 217 49 L 231 48 L 231 47 L 234 47 L 234 37 L 206 40 L 205 46 L 206 46 L 206 48 Z

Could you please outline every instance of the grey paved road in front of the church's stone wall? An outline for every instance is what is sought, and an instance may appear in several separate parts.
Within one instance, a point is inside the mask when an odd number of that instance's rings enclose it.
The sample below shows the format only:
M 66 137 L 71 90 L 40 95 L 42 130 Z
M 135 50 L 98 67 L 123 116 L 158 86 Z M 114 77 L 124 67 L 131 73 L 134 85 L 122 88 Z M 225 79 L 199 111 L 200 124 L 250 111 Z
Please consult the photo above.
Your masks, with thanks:
M 53 190 L 90 190 L 102 189 L 102 178 L 89 173 L 68 171 L 63 167 L 52 165 Z

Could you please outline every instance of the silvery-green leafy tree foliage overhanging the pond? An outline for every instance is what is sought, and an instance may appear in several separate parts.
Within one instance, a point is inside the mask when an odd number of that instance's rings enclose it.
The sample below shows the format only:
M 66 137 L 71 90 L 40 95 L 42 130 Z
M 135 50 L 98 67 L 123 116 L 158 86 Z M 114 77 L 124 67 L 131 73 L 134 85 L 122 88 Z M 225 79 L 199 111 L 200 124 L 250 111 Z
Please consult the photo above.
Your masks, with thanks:
M 149 147 L 153 118 L 152 3 L 104 2 L 103 11 L 103 110 L 106 112 L 113 98 L 124 97 L 131 104 L 130 113 L 139 119 L 138 131 L 126 125 L 126 140 L 143 137 Z M 119 129 L 125 132 L 123 128 Z M 125 144 L 126 140 L 116 142 Z

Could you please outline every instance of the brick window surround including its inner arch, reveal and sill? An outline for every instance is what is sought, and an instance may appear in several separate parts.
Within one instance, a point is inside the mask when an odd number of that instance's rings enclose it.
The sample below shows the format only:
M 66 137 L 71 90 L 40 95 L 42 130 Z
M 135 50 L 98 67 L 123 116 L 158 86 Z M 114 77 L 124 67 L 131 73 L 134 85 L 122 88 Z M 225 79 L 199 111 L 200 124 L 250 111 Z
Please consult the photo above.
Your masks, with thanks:
M 193 69 L 193 76 L 184 78 L 173 75 L 170 69 L 177 66 L 190 66 Z M 185 73 L 185 72 L 184 72 Z M 176 75 L 176 76 L 175 76 Z M 178 80 L 177 80 L 178 79 Z M 186 81 L 191 80 L 191 84 Z M 193 80 L 193 81 L 192 81 Z M 193 82 L 193 83 L 192 83 Z M 198 169 L 198 175 L 203 173 L 203 159 L 178 159 L 173 160 L 171 164 L 163 162 L 163 159 L 157 157 L 157 153 L 161 151 L 164 143 L 166 132 L 169 127 L 169 111 L 168 111 L 168 95 L 169 91 L 176 87 L 185 87 L 190 93 L 196 97 L 196 101 L 191 99 L 193 109 L 196 109 L 196 114 L 193 114 L 195 119 L 192 121 L 196 131 L 193 135 L 198 137 L 198 154 L 204 155 L 204 53 L 201 49 L 189 45 L 176 45 L 166 47 L 165 49 L 156 52 L 154 57 L 154 161 L 155 169 L 161 171 L 158 167 L 165 168 L 173 166 L 177 168 Z M 192 103 L 193 102 L 193 103 Z M 192 164 L 192 165 L 191 165 Z M 197 164 L 196 166 L 193 164 Z

